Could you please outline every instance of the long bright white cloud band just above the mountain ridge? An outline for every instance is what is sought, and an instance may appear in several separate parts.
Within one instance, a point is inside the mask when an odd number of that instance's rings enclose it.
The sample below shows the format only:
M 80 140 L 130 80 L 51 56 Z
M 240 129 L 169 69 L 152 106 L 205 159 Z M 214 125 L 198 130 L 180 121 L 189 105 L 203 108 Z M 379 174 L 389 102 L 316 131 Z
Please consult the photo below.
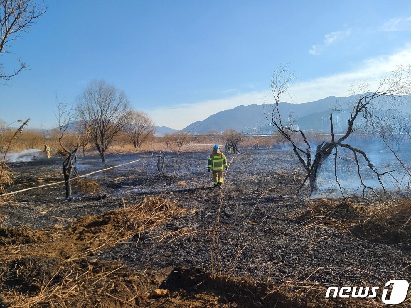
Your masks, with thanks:
M 349 71 L 302 81 L 293 86 L 291 91 L 296 98 L 296 103 L 316 101 L 330 95 L 344 97 L 351 94 L 349 90 L 352 83 L 367 80 L 368 83 L 375 86 L 379 79 L 392 71 L 398 64 L 411 64 L 411 45 L 392 55 L 365 60 Z M 195 121 L 204 120 L 212 114 L 239 105 L 271 103 L 270 94 L 267 93 L 268 91 L 253 91 L 224 99 L 180 104 L 146 111 L 153 117 L 157 125 L 182 129 Z M 283 97 L 283 100 L 289 101 L 289 98 Z

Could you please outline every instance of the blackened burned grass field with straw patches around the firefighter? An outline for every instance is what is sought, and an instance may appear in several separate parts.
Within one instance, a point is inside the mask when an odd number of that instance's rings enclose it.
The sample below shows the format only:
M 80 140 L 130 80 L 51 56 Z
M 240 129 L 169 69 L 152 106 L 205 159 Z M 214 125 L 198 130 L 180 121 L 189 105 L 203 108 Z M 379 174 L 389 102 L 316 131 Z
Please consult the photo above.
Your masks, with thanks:
M 60 184 L 3 198 L 2 305 L 377 307 L 381 297 L 324 296 L 332 285 L 382 290 L 411 280 L 408 197 L 342 200 L 326 176 L 319 197 L 334 199 L 296 197 L 304 174 L 290 149 L 228 156 L 220 191 L 207 157 L 168 154 L 162 174 L 151 153 L 113 155 L 105 165 L 79 157 L 80 174 L 140 161 L 74 179 L 69 200 Z M 10 164 L 6 189 L 59 182 L 61 164 Z M 354 186 L 355 166 L 344 168 Z

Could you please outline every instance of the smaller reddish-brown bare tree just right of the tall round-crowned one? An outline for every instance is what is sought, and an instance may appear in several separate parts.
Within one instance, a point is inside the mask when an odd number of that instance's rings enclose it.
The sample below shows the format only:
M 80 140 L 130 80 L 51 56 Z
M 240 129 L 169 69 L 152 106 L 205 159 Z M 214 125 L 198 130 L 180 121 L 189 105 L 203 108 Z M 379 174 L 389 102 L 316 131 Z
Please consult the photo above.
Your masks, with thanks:
M 124 133 L 135 148 L 152 137 L 156 132 L 152 118 L 144 112 L 132 111 L 129 122 L 124 126 Z

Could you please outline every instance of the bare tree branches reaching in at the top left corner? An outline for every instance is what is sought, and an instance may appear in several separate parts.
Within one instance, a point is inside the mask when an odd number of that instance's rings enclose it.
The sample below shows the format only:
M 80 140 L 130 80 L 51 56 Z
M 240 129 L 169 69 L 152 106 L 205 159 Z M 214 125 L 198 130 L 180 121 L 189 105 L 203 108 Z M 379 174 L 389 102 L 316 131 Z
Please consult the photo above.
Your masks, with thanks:
M 0 0 L 0 56 L 10 53 L 8 48 L 13 41 L 21 38 L 21 34 L 30 32 L 35 20 L 46 12 L 47 7 L 33 0 Z M 21 59 L 20 65 L 7 73 L 0 63 L 0 79 L 10 80 L 28 66 Z

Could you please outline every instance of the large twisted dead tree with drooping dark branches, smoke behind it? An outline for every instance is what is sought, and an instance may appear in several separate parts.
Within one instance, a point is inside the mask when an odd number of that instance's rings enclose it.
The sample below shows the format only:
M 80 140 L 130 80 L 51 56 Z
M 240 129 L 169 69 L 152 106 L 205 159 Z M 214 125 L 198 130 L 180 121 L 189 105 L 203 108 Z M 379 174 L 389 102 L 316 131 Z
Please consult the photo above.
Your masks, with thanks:
M 349 149 L 353 153 L 357 165 L 358 177 L 361 183 L 358 189 L 361 187 L 363 188 L 363 196 L 365 196 L 366 189 L 373 191 L 375 195 L 376 193 L 372 187 L 367 186 L 363 181 L 360 163 L 358 162 L 358 156 L 362 156 L 365 159 L 369 169 L 372 170 L 372 172 L 374 172 L 379 181 L 379 184 L 381 185 L 381 188 L 385 192 L 385 188 L 383 182 L 381 181 L 381 177 L 388 172 L 378 172 L 374 165 L 371 163 L 371 161 L 368 159 L 367 154 L 364 151 L 357 149 L 349 145 L 348 143 L 344 143 L 344 141 L 351 135 L 351 133 L 358 129 L 364 129 L 364 127 L 373 129 L 376 126 L 378 126 L 381 122 L 387 120 L 387 112 L 395 106 L 395 103 L 398 100 L 400 100 L 403 95 L 410 93 L 410 67 L 398 66 L 394 71 L 391 72 L 390 76 L 380 81 L 375 92 L 369 92 L 369 86 L 360 84 L 358 87 L 360 94 L 355 96 L 355 101 L 349 104 L 349 106 L 346 106 L 349 107 L 350 110 L 348 111 L 349 119 L 346 132 L 338 140 L 335 140 L 331 114 L 330 141 L 324 141 L 316 147 L 316 151 L 314 153 L 314 160 L 312 157 L 312 146 L 307 140 L 305 133 L 302 130 L 291 129 L 288 123 L 289 120 L 287 119 L 288 121 L 284 122 L 282 119 L 282 115 L 279 111 L 280 97 L 284 94 L 290 94 L 289 87 L 293 83 L 293 80 L 295 78 L 296 76 L 293 73 L 290 73 L 288 67 L 277 67 L 271 80 L 271 90 L 275 99 L 275 103 L 271 105 L 272 110 L 266 112 L 266 117 L 270 121 L 270 123 L 277 129 L 277 131 L 282 136 L 284 136 L 284 138 L 286 138 L 286 140 L 288 140 L 289 143 L 291 143 L 291 146 L 293 147 L 293 152 L 296 154 L 298 160 L 300 161 L 304 169 L 307 171 L 307 176 L 302 182 L 300 189 L 297 193 L 300 192 L 301 188 L 304 186 L 307 180 L 309 181 L 311 191 L 310 196 L 314 192 L 318 191 L 316 179 L 319 174 L 319 171 L 321 170 L 321 166 L 330 155 L 334 155 L 335 181 L 338 184 L 343 197 L 346 195 L 346 192 L 344 191 L 344 188 L 340 185 L 337 176 L 336 165 L 338 157 L 338 147 Z M 336 111 L 343 112 L 342 110 Z M 297 136 L 299 136 L 303 141 L 302 146 L 297 143 Z

